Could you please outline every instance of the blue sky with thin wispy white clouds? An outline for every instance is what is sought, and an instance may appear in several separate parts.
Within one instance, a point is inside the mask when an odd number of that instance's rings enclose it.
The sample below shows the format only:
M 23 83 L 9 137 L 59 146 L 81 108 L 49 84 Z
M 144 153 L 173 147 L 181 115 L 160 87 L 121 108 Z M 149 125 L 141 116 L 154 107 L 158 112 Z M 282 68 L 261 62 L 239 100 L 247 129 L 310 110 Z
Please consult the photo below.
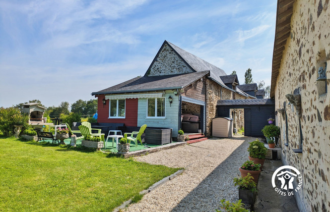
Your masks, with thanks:
M 270 85 L 276 0 L 1 0 L 0 107 L 94 99 L 163 42 Z

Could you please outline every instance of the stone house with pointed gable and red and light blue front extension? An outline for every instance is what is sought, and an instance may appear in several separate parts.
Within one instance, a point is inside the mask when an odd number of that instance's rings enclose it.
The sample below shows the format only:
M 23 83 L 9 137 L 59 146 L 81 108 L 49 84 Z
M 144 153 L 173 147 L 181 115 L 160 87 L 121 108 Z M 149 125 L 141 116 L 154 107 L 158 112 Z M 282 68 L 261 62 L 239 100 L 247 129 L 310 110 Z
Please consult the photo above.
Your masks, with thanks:
M 222 69 L 165 41 L 144 76 L 92 93 L 98 122 L 168 127 L 173 137 L 181 128 L 211 135 L 218 100 L 254 98 L 236 87 L 237 79 L 226 86 L 223 76 Z

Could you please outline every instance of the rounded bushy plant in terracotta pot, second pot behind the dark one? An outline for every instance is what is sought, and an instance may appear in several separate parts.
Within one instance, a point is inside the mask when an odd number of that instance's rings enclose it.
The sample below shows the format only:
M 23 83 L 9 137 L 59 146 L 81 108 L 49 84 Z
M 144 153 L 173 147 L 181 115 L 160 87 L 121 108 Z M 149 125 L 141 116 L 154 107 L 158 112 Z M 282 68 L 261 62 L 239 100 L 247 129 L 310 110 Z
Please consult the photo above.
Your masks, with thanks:
M 249 144 L 249 159 L 254 161 L 254 163 L 260 163 L 260 170 L 262 170 L 264 166 L 264 158 L 267 154 L 267 148 L 265 148 L 264 143 L 260 142 L 258 139 Z

